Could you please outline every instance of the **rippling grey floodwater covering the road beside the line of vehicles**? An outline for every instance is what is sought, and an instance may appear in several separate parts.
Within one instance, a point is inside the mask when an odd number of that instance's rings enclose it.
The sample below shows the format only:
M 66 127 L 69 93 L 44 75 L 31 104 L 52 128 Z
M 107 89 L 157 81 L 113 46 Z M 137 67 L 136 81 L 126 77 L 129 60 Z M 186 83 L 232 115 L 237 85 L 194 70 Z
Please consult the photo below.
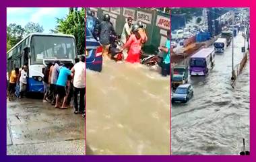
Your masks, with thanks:
M 241 33 L 234 38 L 234 65 L 243 58 Z M 238 155 L 245 138 L 249 150 L 249 62 L 230 85 L 232 44 L 216 54 L 206 77 L 190 77 L 194 96 L 187 104 L 172 104 L 173 155 Z

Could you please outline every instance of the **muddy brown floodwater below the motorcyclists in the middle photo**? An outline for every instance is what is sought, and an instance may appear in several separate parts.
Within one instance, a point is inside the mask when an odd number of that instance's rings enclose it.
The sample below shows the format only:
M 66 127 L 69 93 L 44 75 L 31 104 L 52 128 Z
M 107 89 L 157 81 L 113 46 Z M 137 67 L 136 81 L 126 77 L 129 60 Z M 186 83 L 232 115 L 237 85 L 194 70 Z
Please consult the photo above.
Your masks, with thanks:
M 170 155 L 170 77 L 104 61 L 86 71 L 86 154 Z

